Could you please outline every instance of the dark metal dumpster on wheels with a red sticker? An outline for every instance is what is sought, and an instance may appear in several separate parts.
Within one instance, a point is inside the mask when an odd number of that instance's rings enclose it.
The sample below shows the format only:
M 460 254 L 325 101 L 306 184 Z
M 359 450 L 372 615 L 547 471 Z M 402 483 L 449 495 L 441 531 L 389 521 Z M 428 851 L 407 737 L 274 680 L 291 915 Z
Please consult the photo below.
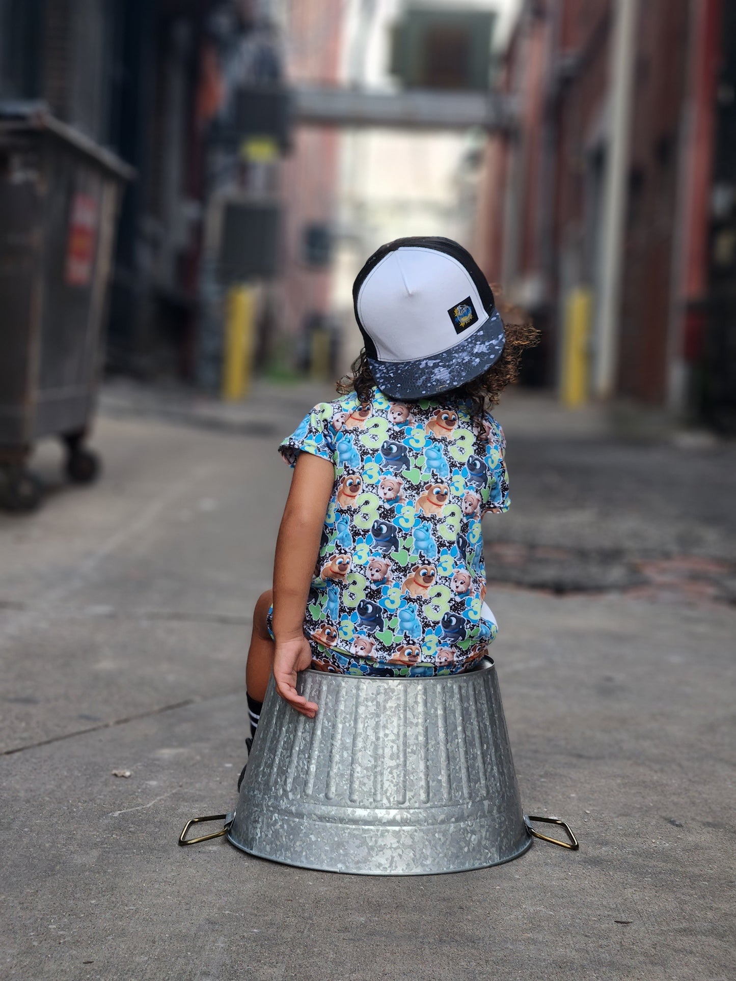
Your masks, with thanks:
M 83 445 L 123 181 L 133 171 L 42 106 L 0 103 L 0 505 L 32 510 L 36 440 L 63 440 L 68 477 L 90 483 Z

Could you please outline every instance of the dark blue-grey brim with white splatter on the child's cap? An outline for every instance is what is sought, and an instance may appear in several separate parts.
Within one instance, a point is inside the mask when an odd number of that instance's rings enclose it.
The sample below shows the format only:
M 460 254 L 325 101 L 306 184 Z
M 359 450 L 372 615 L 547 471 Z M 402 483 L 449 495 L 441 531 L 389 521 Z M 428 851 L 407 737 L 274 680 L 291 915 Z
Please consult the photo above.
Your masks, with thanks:
M 494 309 L 472 336 L 447 351 L 414 361 L 368 358 L 368 364 L 376 385 L 392 398 L 429 398 L 482 375 L 499 360 L 503 340 L 503 322 L 499 311 Z

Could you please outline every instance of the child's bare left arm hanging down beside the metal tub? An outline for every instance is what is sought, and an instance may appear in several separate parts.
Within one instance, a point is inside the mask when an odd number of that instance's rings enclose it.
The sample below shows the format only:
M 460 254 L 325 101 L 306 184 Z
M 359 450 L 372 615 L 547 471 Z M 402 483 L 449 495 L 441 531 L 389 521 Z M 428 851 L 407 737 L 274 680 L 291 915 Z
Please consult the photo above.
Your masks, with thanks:
M 312 660 L 304 637 L 304 610 L 334 483 L 332 463 L 310 453 L 299 453 L 274 561 L 276 691 L 310 718 L 314 718 L 317 705 L 296 694 L 296 672 L 308 668 Z

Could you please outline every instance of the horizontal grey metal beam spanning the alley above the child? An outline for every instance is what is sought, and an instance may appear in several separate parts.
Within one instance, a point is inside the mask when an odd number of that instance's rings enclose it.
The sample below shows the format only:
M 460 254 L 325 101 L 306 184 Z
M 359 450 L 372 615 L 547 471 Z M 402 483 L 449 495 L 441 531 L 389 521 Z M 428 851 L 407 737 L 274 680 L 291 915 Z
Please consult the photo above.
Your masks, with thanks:
M 516 116 L 512 98 L 498 92 L 387 93 L 297 86 L 292 97 L 294 122 L 305 126 L 509 129 Z

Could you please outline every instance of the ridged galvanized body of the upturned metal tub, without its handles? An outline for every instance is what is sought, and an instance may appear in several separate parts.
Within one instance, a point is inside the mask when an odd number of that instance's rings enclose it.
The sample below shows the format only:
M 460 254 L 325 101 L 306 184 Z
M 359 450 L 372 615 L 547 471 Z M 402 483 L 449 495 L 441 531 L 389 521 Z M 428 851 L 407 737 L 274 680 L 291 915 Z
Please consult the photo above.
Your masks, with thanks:
M 230 841 L 325 871 L 420 875 L 531 844 L 496 669 L 441 678 L 307 671 L 315 719 L 269 686 Z

